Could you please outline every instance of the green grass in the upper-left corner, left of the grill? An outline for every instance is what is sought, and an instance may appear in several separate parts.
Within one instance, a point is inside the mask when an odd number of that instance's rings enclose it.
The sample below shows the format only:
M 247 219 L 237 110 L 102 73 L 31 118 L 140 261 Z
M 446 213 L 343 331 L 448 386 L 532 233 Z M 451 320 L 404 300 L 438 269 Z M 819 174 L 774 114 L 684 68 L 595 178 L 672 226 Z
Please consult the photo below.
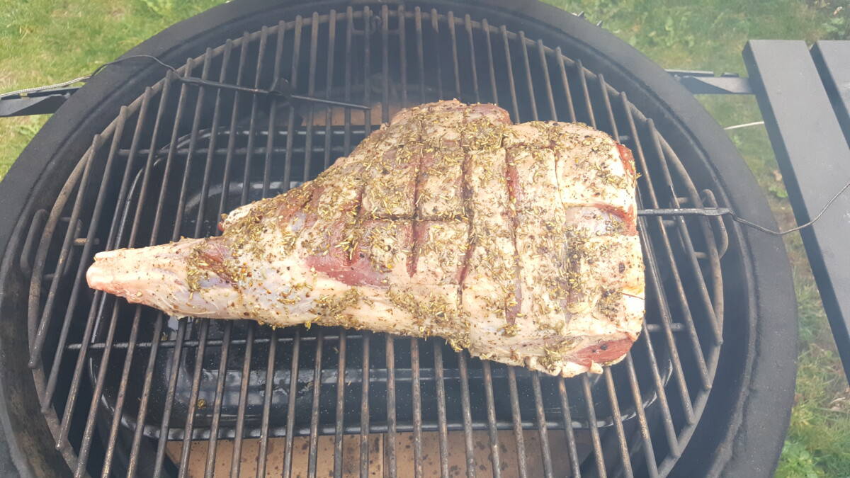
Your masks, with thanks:
M 0 0 L 0 92 L 81 77 L 220 0 Z M 47 121 L 0 119 L 0 177 Z

